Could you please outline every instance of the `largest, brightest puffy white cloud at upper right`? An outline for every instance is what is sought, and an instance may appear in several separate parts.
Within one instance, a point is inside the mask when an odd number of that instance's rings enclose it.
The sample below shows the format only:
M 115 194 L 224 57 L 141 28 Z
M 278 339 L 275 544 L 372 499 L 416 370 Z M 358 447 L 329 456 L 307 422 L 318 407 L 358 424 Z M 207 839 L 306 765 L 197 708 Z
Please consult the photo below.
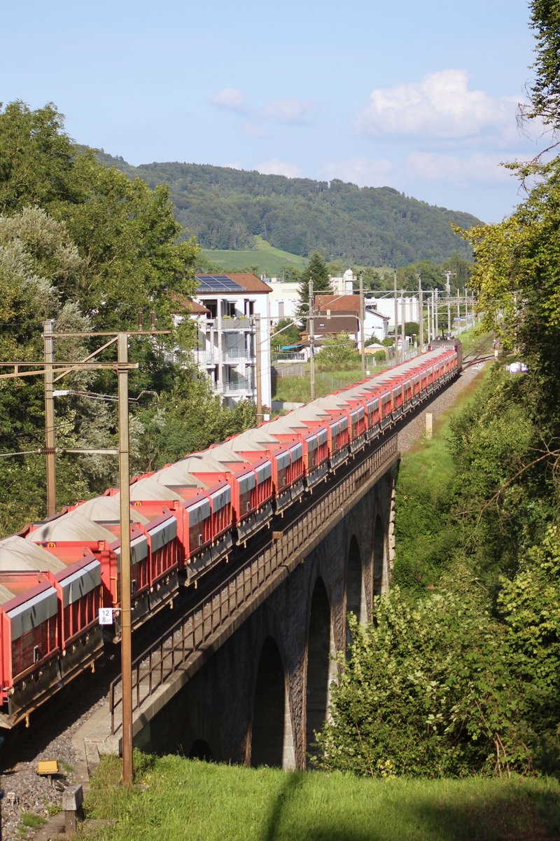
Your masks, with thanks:
M 359 130 L 369 135 L 441 138 L 502 133 L 515 124 L 516 101 L 468 89 L 468 73 L 442 70 L 421 82 L 376 88 L 360 112 Z

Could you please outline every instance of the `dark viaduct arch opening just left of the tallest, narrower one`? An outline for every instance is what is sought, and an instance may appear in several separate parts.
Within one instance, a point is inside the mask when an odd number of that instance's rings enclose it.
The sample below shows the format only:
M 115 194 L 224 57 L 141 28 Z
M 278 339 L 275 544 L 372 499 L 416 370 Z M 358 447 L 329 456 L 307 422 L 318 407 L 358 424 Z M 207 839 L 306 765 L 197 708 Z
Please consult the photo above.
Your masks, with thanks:
M 260 652 L 254 686 L 250 764 L 294 768 L 294 740 L 284 667 L 275 640 L 267 637 Z

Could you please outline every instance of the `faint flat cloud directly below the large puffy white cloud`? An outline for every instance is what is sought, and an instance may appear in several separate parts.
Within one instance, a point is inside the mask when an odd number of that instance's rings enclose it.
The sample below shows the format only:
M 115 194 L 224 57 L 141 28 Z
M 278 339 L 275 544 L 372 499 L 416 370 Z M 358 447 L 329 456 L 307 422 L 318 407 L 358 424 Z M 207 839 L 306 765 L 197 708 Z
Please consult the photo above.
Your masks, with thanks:
M 511 173 L 500 167 L 503 158 L 495 155 L 470 155 L 459 158 L 437 152 L 412 152 L 405 160 L 407 177 L 424 181 L 442 181 L 453 187 L 471 187 L 474 182 L 504 183 Z

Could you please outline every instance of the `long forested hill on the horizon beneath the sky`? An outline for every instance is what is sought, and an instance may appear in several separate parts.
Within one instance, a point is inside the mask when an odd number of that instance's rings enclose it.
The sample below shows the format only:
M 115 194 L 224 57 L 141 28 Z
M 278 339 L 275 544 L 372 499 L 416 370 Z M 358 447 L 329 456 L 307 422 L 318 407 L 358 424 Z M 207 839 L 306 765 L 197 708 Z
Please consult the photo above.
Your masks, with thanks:
M 364 266 L 442 262 L 453 253 L 471 257 L 470 246 L 450 223 L 470 228 L 474 216 L 407 198 L 390 187 L 356 187 L 338 180 L 312 181 L 261 175 L 228 167 L 150 163 L 132 167 L 101 153 L 100 160 L 129 177 L 167 184 L 176 219 L 203 248 L 250 248 L 254 235 L 306 257 Z

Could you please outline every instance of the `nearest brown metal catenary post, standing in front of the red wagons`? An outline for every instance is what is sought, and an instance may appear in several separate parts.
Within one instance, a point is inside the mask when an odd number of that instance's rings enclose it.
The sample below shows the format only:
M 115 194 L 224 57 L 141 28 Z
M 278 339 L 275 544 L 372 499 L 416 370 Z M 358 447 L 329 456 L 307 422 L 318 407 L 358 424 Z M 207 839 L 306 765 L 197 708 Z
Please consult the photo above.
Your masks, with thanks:
M 118 365 L 128 362 L 128 334 L 118 333 Z M 130 466 L 128 368 L 118 368 L 118 483 L 121 502 L 121 669 L 123 677 L 123 783 L 133 783 L 132 633 L 130 624 Z

